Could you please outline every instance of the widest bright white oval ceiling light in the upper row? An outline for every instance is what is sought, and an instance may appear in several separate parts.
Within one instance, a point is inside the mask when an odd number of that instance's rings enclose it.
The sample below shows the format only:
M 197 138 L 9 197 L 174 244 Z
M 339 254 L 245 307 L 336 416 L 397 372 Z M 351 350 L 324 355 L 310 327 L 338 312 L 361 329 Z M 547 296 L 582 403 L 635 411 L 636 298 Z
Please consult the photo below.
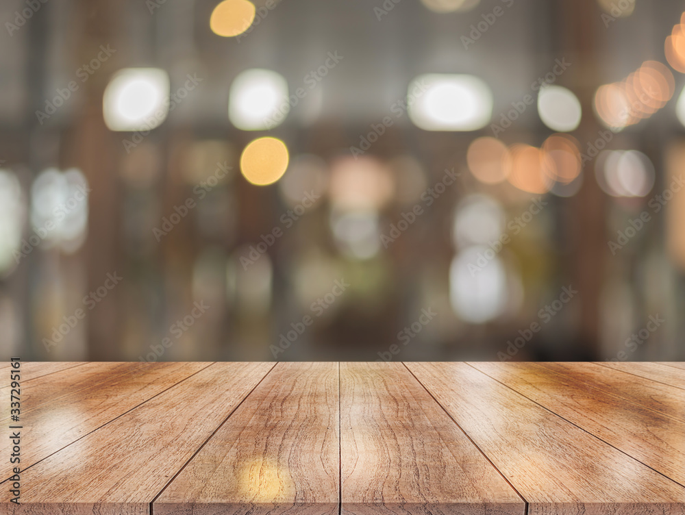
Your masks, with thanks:
M 473 75 L 420 75 L 407 95 L 409 117 L 427 131 L 475 131 L 493 112 L 493 93 Z

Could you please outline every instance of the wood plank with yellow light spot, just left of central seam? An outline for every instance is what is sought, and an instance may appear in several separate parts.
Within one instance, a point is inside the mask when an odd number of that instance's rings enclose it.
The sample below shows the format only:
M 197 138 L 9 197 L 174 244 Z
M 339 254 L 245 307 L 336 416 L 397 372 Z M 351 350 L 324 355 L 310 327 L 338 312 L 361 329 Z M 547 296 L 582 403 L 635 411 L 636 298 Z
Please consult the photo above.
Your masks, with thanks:
M 337 515 L 337 363 L 279 363 L 154 502 L 155 515 Z

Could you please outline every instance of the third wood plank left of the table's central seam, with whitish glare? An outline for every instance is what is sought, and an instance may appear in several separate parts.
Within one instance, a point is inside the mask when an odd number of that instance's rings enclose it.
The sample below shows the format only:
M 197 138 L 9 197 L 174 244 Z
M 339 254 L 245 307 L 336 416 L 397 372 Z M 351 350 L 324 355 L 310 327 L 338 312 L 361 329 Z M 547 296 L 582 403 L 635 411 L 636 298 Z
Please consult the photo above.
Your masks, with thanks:
M 155 395 L 171 388 L 210 363 L 123 363 L 119 366 L 103 368 L 102 364 L 86 364 L 79 370 L 74 370 L 75 381 L 93 381 L 87 388 L 75 389 L 49 403 L 45 403 L 36 410 L 29 410 L 21 414 L 22 431 L 22 469 L 29 468 L 36 462 L 59 451 L 63 447 L 82 438 L 91 431 L 105 425 L 117 416 L 132 410 L 134 407 L 151 399 Z M 109 379 L 107 370 L 129 369 L 129 373 L 113 375 Z M 84 374 L 92 370 L 96 375 Z M 67 378 L 71 370 L 64 370 Z M 37 386 L 34 397 L 40 397 L 44 392 L 48 394 L 55 390 L 55 384 L 43 383 L 42 379 L 55 378 L 60 374 L 53 374 L 32 381 L 32 388 Z M 55 383 L 69 390 L 69 386 L 62 384 L 62 377 L 55 379 Z M 28 386 L 27 386 L 28 387 Z M 27 388 L 28 389 L 28 388 Z M 30 405 L 22 401 L 23 405 Z M 0 456 L 10 455 L 12 441 L 0 440 Z M 12 466 L 3 462 L 2 479 L 12 475 Z

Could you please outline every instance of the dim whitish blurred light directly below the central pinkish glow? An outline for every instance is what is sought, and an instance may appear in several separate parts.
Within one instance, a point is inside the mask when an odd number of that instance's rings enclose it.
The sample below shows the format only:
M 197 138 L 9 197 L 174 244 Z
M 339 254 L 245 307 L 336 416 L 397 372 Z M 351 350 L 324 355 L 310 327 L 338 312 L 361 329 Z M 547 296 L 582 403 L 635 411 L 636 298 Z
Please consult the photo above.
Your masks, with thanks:
M 338 248 L 348 257 L 368 260 L 381 247 L 378 215 L 371 211 L 332 212 L 331 228 Z

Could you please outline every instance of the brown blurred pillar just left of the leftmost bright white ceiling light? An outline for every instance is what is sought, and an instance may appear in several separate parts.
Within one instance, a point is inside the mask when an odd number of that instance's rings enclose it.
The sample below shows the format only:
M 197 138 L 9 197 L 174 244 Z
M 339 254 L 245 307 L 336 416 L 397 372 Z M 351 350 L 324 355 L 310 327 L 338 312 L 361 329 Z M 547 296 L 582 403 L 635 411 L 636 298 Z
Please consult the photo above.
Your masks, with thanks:
M 77 0 L 74 11 L 81 14 L 75 30 L 82 38 L 77 46 L 79 66 L 99 52 L 100 45 L 111 45 L 119 51 L 115 34 L 117 21 L 125 2 Z M 121 260 L 121 191 L 116 174 L 118 139 L 107 129 L 102 114 L 105 86 L 119 63 L 114 53 L 102 67 L 82 84 L 83 108 L 73 138 L 65 150 L 69 160 L 81 168 L 88 179 L 88 239 L 84 249 L 87 293 L 103 286 L 107 274 L 115 272 L 123 281 L 88 312 L 88 360 L 116 360 L 120 355 L 121 313 L 116 301 L 125 288 L 125 271 Z

